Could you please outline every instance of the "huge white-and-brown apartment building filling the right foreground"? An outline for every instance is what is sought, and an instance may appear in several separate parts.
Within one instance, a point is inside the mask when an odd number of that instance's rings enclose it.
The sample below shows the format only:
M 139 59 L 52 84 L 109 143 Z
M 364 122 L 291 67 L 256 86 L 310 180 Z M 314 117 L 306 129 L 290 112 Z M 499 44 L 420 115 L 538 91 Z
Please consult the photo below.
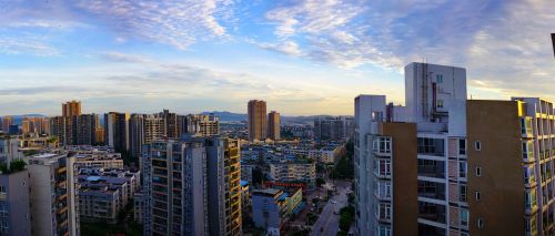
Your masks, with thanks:
M 554 104 L 467 101 L 461 68 L 412 63 L 405 84 L 406 106 L 355 99 L 356 234 L 555 234 Z

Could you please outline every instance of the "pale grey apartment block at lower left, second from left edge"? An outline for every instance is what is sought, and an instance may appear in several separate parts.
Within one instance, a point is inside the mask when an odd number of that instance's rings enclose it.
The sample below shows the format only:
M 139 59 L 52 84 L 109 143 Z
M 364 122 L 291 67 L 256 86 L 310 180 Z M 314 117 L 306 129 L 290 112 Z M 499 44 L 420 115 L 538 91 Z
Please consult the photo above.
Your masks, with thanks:
M 53 153 L 29 157 L 32 235 L 80 235 L 74 161 Z

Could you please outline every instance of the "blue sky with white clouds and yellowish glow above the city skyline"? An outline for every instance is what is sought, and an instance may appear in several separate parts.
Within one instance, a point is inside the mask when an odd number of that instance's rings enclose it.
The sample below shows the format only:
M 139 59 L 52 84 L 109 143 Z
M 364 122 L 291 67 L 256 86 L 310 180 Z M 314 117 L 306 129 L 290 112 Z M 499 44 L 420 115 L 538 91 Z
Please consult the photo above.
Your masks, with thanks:
M 555 101 L 553 0 L 0 0 L 0 115 L 353 114 L 404 103 L 410 62 L 466 68 L 468 96 Z

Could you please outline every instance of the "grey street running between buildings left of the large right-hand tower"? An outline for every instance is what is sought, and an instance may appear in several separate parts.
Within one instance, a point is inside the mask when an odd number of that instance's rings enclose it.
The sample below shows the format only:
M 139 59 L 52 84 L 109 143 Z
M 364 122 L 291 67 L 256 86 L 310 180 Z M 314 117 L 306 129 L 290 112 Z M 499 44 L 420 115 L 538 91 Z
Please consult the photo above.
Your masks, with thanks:
M 336 181 L 337 195 L 333 195 L 325 204 L 316 223 L 312 227 L 311 236 L 335 236 L 340 229 L 340 216 L 333 212 L 340 212 L 341 208 L 347 205 L 347 191 L 351 187 L 350 182 Z M 334 203 L 336 202 L 336 203 Z

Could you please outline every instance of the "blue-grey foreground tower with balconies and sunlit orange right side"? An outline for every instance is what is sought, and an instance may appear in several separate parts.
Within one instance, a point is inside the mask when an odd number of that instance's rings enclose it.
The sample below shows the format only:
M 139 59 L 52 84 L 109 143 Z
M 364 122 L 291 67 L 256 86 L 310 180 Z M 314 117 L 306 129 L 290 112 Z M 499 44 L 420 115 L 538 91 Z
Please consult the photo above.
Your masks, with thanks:
M 240 235 L 239 153 L 221 137 L 145 145 L 144 235 Z

